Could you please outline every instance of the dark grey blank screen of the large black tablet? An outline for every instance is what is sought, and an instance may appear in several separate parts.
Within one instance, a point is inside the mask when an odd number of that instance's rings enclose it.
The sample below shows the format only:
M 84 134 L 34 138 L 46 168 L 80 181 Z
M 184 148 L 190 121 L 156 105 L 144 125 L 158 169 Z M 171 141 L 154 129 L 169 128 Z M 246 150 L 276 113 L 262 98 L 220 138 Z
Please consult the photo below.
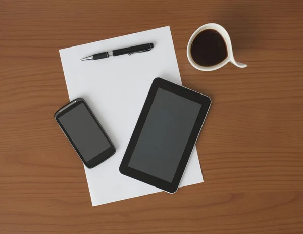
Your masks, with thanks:
M 158 88 L 128 166 L 172 182 L 200 109 Z

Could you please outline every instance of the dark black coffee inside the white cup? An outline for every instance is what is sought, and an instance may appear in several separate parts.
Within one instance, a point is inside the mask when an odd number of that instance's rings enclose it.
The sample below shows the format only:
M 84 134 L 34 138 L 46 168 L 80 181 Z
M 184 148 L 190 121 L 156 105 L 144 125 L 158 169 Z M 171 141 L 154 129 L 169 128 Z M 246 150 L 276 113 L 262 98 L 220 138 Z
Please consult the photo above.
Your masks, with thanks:
M 201 31 L 193 39 L 190 48 L 193 61 L 205 67 L 221 63 L 227 57 L 227 48 L 221 34 L 213 29 Z

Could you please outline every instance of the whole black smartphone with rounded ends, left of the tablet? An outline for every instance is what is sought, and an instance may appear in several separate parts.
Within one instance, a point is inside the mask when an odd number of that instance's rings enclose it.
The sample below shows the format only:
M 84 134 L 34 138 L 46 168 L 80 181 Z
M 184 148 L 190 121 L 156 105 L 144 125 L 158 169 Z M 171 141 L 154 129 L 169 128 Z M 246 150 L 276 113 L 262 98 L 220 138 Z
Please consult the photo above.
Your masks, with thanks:
M 113 143 L 84 99 L 59 109 L 55 119 L 86 167 L 93 168 L 115 154 Z

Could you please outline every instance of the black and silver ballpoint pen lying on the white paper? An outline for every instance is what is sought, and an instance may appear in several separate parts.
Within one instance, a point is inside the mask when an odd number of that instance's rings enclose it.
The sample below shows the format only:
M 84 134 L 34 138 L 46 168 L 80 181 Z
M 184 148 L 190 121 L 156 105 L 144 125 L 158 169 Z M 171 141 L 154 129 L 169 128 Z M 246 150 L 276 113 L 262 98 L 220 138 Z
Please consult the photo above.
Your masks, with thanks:
M 110 56 L 118 56 L 118 55 L 125 55 L 125 54 L 131 55 L 131 54 L 135 54 L 135 53 L 150 51 L 153 48 L 154 48 L 153 43 L 140 44 L 140 45 L 135 45 L 135 46 L 131 46 L 131 47 L 128 47 L 128 48 L 123 48 L 123 49 L 118 49 L 118 50 L 114 50 L 114 51 L 98 53 L 98 54 L 95 54 L 95 55 L 85 57 L 81 60 L 83 61 L 83 60 L 105 59 L 105 58 L 108 58 Z

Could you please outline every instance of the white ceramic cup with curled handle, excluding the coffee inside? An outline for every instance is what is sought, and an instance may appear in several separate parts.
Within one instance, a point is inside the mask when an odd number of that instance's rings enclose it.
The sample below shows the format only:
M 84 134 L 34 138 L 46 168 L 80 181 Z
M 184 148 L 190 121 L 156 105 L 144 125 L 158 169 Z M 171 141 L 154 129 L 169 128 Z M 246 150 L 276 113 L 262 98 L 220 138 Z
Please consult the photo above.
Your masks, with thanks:
M 191 53 L 190 53 L 190 48 L 191 48 L 191 44 L 192 44 L 193 39 L 201 31 L 204 31 L 204 30 L 207 30 L 207 29 L 213 29 L 213 30 L 217 31 L 218 33 L 220 33 L 221 36 L 223 37 L 224 41 L 225 41 L 226 48 L 227 48 L 227 57 L 226 57 L 226 59 L 224 59 L 221 63 L 216 64 L 214 66 L 210 66 L 210 67 L 201 66 L 201 65 L 195 63 L 194 60 L 192 59 Z M 233 56 L 233 52 L 232 52 L 230 37 L 229 37 L 227 31 L 221 25 L 215 24 L 215 23 L 205 24 L 205 25 L 199 27 L 197 30 L 195 30 L 195 32 L 191 35 L 191 37 L 188 41 L 188 44 L 187 44 L 187 58 L 188 58 L 190 64 L 194 68 L 196 68 L 200 71 L 214 71 L 214 70 L 217 70 L 217 69 L 223 67 L 228 62 L 231 62 L 232 64 L 234 64 L 235 66 L 240 67 L 240 68 L 247 67 L 246 64 L 239 63 L 239 62 L 235 61 L 234 56 Z

